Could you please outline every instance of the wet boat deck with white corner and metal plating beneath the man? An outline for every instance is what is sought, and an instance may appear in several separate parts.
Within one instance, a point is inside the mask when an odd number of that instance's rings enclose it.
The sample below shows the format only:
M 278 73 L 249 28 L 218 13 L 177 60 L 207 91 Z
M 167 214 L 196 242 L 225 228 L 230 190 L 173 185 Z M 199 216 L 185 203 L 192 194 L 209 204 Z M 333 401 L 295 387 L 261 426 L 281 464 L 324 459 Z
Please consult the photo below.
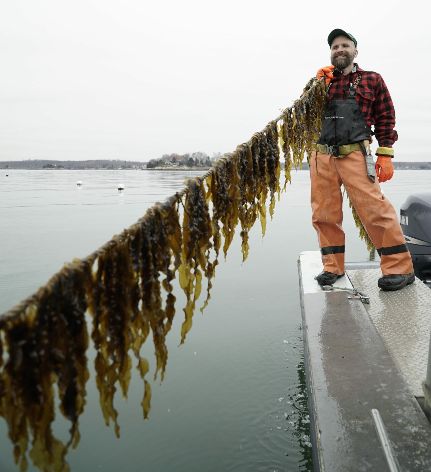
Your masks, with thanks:
M 334 284 L 353 283 L 370 297 L 367 305 L 349 292 L 322 291 L 314 280 L 320 252 L 300 254 L 316 471 L 431 470 L 431 426 L 416 399 L 426 376 L 431 290 L 416 279 L 381 291 L 376 266 L 346 264 L 347 275 Z

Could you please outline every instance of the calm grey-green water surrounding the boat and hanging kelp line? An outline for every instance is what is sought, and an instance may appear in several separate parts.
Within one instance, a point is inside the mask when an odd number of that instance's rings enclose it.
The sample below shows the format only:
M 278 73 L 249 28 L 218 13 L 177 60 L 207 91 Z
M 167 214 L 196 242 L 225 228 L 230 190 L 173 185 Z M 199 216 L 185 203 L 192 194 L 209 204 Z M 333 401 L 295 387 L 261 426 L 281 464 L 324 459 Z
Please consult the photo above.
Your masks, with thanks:
M 130 226 L 193 175 L 2 171 L 0 312 L 43 285 L 64 262 L 86 256 Z M 263 242 L 260 225 L 252 229 L 244 265 L 236 235 L 227 261 L 217 268 L 211 302 L 203 315 L 195 312 L 180 347 L 185 299 L 175 287 L 177 315 L 167 337 L 165 379 L 161 385 L 160 378 L 151 380 L 149 421 L 142 421 L 139 375 L 132 376 L 127 402 L 117 394 L 119 439 L 104 424 L 92 369 L 95 352 L 89 349 L 82 438 L 66 457 L 72 471 L 312 470 L 296 261 L 301 251 L 317 250 L 318 244 L 308 172 L 292 177 Z M 122 193 L 119 183 L 125 186 Z M 429 190 L 430 184 L 431 172 L 403 170 L 382 188 L 399 212 L 409 193 Z M 347 207 L 344 229 L 346 260 L 366 260 L 368 252 Z M 142 354 L 154 372 L 151 342 Z M 67 442 L 68 428 L 58 414 L 56 437 Z M 0 451 L 0 471 L 17 470 L 2 419 Z M 36 469 L 30 464 L 29 470 Z

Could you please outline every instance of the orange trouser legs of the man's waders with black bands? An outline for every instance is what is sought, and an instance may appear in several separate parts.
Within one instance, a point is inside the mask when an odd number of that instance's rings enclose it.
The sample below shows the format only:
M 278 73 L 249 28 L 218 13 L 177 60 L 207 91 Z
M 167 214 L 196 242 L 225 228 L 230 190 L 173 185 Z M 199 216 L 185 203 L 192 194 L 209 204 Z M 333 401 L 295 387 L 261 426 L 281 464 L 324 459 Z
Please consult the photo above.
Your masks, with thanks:
M 316 155 L 317 170 L 316 173 Z M 318 234 L 323 270 L 344 273 L 343 196 L 346 187 L 355 209 L 380 255 L 383 275 L 409 274 L 413 264 L 397 213 L 380 191 L 379 182 L 367 177 L 365 157 L 353 151 L 344 158 L 313 151 L 311 155 L 311 206 Z

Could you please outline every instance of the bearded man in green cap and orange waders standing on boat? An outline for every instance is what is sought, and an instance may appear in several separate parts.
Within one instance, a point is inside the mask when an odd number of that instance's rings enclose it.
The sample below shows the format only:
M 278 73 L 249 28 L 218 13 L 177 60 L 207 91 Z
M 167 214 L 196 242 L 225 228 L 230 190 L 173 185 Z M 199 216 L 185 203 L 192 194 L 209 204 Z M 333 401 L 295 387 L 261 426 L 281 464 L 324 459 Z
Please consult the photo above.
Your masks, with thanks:
M 310 168 L 313 226 L 323 262 L 317 282 L 333 284 L 344 275 L 340 189 L 344 184 L 380 255 L 383 277 L 378 286 L 399 290 L 414 281 L 413 264 L 397 213 L 381 194 L 379 185 L 394 173 L 392 145 L 398 138 L 394 106 L 380 74 L 365 71 L 354 62 L 358 51 L 351 34 L 335 29 L 328 36 L 328 43 L 332 65 L 319 69 L 317 79 L 325 77 L 329 96 Z M 372 135 L 379 143 L 375 170 L 369 150 Z

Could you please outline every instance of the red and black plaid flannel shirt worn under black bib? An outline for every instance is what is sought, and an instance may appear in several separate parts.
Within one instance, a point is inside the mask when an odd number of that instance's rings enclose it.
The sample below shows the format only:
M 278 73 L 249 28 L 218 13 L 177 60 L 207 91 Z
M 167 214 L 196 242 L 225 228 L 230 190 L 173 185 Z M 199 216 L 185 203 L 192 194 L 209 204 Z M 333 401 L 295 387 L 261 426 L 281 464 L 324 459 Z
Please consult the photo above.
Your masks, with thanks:
M 346 76 L 343 72 L 335 68 L 332 69 L 334 78 L 330 83 L 328 100 L 346 99 L 349 93 L 343 89 L 343 85 L 353 83 L 356 72 L 362 70 L 356 63 L 354 63 L 352 72 Z M 313 79 L 307 84 L 306 88 L 312 83 Z M 361 82 L 355 93 L 355 99 L 367 125 L 370 129 L 372 125 L 374 126 L 374 134 L 379 146 L 392 147 L 392 144 L 398 139 L 398 134 L 394 129 L 395 110 L 388 87 L 380 74 L 372 71 L 363 71 Z

